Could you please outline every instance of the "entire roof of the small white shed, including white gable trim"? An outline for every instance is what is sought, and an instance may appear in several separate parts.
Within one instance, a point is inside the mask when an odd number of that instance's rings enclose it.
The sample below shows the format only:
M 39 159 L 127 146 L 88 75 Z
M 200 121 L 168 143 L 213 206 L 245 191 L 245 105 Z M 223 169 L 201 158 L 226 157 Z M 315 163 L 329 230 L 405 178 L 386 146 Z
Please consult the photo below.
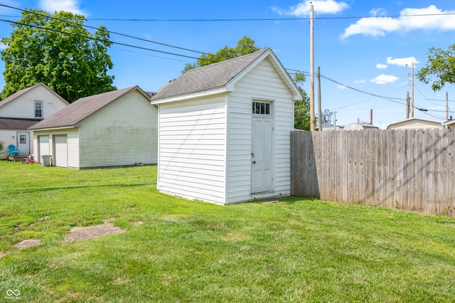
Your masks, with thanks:
M 276 70 L 281 73 L 280 78 L 287 83 L 290 90 L 293 90 L 293 95 L 301 99 L 299 90 L 296 88 L 294 82 L 291 80 L 286 70 L 282 67 L 279 60 L 276 58 L 270 48 L 259 50 L 255 53 L 242 55 L 237 58 L 225 60 L 219 63 L 205 65 L 201 68 L 188 70 L 177 79 L 173 79 L 161 87 L 156 94 L 151 97 L 152 103 L 169 102 L 171 98 L 178 96 L 191 95 L 200 92 L 210 92 L 225 88 L 228 91 L 232 87 L 227 88 L 230 84 L 241 78 L 245 71 L 250 70 L 267 56 L 273 58 Z

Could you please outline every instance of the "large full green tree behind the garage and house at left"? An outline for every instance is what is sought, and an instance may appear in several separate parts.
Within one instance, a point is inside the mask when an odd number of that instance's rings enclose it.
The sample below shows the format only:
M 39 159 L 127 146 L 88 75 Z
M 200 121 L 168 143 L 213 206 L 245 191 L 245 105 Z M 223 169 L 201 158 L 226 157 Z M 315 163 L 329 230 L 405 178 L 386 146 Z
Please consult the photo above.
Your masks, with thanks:
M 6 45 L 0 52 L 5 63 L 1 97 L 41 82 L 68 102 L 114 90 L 114 76 L 107 75 L 113 64 L 106 28 L 90 33 L 82 26 L 85 16 L 65 11 L 48 16 L 23 11 L 21 20 L 12 23 L 11 37 L 1 39 Z

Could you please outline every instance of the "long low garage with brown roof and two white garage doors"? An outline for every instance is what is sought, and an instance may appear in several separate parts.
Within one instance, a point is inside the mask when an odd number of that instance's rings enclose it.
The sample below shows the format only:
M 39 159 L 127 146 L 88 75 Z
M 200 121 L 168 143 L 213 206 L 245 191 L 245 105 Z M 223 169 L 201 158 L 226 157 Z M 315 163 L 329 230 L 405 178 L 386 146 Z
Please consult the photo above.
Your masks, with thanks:
M 33 125 L 33 145 L 71 169 L 156 164 L 157 108 L 138 86 L 83 97 Z

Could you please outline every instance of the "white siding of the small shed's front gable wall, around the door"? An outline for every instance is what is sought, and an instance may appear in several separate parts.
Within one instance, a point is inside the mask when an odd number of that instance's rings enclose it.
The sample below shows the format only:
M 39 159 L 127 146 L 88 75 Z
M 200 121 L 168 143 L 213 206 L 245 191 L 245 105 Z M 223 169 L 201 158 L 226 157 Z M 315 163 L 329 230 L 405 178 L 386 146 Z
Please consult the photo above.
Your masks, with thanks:
M 291 193 L 290 134 L 294 127 L 292 95 L 268 60 L 235 84 L 228 106 L 228 167 L 226 203 L 247 201 L 251 195 L 252 101 L 272 101 L 274 119 L 274 191 L 264 196 Z

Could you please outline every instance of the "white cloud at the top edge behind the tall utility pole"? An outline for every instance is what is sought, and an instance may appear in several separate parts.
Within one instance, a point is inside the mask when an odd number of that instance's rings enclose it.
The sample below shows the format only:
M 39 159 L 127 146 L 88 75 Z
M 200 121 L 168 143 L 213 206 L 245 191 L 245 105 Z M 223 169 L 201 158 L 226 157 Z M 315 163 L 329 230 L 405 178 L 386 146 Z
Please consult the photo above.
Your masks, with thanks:
M 290 9 L 279 9 L 272 7 L 280 15 L 290 16 L 309 16 L 310 7 L 313 4 L 313 10 L 315 14 L 338 14 L 344 9 L 348 9 L 346 2 L 335 1 L 335 0 L 313 0 L 313 1 L 302 1 L 299 4 L 291 6 Z

